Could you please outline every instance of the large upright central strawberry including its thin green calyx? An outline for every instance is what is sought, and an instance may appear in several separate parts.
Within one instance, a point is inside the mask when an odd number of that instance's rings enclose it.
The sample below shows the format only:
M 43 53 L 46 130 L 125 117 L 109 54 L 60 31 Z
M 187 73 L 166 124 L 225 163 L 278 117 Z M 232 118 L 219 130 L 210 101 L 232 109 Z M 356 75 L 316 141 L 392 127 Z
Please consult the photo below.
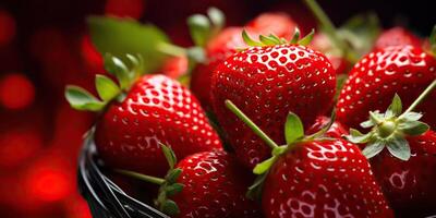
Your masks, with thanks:
M 289 111 L 310 124 L 328 110 L 335 95 L 335 71 L 324 55 L 296 45 L 298 37 L 289 44 L 275 36 L 261 36 L 267 45 L 253 41 L 245 33 L 243 37 L 256 47 L 237 52 L 217 66 L 211 98 L 214 112 L 237 156 L 253 168 L 270 150 L 227 110 L 225 100 L 240 105 L 275 141 L 284 143 L 280 132 Z

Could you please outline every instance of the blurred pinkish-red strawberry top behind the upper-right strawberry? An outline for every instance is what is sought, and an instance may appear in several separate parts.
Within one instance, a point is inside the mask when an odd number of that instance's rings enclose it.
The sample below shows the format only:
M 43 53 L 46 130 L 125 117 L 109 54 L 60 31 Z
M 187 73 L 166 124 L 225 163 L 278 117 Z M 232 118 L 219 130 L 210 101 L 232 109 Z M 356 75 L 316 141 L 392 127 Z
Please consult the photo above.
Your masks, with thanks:
M 390 46 L 414 46 L 421 47 L 422 40 L 413 33 L 403 27 L 393 27 L 384 31 L 375 41 L 374 49 L 383 49 Z

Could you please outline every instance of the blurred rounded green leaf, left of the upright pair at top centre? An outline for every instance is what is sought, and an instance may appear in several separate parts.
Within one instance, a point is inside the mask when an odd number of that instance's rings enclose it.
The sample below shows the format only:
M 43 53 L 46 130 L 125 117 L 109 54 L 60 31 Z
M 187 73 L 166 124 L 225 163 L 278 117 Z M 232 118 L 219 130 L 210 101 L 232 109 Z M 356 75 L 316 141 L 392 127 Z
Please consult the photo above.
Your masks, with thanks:
M 195 46 L 205 47 L 210 37 L 210 22 L 207 16 L 203 14 L 194 14 L 187 19 L 187 26 L 190 27 L 191 37 Z

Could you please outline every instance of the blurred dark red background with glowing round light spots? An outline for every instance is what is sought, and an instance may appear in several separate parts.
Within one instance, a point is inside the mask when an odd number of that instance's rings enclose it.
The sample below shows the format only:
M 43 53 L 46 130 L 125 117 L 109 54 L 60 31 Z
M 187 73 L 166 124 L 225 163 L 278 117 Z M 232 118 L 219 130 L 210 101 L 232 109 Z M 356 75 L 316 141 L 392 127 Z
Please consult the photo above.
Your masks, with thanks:
M 389 27 L 400 22 L 427 34 L 436 23 L 425 1 L 319 1 L 340 24 L 375 11 Z M 161 27 L 190 46 L 185 19 L 215 5 L 228 24 L 265 11 L 288 12 L 314 26 L 300 1 L 290 0 L 2 0 L 0 2 L 0 217 L 90 217 L 75 181 L 82 136 L 93 114 L 72 110 L 65 84 L 93 87 L 102 60 L 86 28 L 90 14 L 129 16 Z

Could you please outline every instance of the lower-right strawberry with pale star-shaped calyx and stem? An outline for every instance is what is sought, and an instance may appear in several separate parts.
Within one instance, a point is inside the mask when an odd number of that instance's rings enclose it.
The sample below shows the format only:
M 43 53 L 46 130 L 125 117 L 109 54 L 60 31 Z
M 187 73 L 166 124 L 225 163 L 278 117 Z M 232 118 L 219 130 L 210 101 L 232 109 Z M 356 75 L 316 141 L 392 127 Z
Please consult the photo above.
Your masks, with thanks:
M 371 112 L 361 125 L 367 134 L 351 130 L 348 138 L 364 144 L 363 154 L 398 217 L 426 217 L 436 209 L 436 133 L 412 112 L 436 87 L 436 80 L 403 113 L 401 99 L 395 96 L 385 113 Z M 401 114 L 400 114 L 401 113 Z M 384 149 L 384 148 L 387 149 Z

